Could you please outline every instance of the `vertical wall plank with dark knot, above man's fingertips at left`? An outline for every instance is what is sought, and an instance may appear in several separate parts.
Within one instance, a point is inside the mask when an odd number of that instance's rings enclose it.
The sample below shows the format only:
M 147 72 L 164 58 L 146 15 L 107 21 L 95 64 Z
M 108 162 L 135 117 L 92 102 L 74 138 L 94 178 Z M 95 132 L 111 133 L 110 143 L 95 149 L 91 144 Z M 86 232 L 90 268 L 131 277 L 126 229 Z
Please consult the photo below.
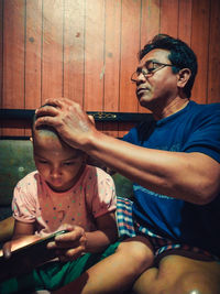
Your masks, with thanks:
M 25 108 L 41 106 L 42 0 L 26 1 Z

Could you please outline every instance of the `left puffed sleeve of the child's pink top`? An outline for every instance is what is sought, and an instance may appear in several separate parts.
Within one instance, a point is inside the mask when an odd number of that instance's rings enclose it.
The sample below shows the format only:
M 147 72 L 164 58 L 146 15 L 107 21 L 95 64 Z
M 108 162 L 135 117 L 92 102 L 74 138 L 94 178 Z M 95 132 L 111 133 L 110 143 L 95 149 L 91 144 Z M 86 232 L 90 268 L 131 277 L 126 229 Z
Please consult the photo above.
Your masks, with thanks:
M 13 193 L 12 211 L 16 220 L 23 222 L 35 221 L 35 200 L 29 187 L 33 187 L 25 178 L 21 179 Z

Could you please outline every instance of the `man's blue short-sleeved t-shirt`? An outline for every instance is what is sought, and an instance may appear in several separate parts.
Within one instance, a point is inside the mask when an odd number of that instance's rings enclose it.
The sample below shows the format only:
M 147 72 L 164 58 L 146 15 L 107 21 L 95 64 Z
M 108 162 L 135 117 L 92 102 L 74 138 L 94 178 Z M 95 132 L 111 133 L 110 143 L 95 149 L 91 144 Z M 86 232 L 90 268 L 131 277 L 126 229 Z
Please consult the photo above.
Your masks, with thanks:
M 201 152 L 220 162 L 220 104 L 190 101 L 165 119 L 140 123 L 123 140 L 148 149 Z M 140 224 L 178 243 L 220 257 L 220 195 L 210 204 L 195 205 L 135 183 L 133 190 L 133 215 Z

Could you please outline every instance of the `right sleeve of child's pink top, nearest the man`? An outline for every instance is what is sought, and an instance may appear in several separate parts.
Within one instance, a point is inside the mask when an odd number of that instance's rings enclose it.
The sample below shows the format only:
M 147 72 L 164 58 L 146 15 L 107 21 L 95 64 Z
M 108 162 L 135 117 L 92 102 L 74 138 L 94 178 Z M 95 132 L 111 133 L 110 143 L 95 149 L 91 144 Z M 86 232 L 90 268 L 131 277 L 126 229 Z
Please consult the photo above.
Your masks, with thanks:
M 116 187 L 112 177 L 96 167 L 92 185 L 91 210 L 95 218 L 117 209 Z

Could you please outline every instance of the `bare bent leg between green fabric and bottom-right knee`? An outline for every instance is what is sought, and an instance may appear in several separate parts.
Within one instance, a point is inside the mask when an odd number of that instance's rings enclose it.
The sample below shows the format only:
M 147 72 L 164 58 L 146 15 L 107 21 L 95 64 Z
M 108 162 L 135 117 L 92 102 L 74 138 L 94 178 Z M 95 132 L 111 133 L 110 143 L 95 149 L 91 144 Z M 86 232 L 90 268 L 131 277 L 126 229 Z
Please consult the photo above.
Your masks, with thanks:
M 91 266 L 81 276 L 53 293 L 123 293 L 135 279 L 153 264 L 151 244 L 144 237 L 121 242 L 116 253 Z

